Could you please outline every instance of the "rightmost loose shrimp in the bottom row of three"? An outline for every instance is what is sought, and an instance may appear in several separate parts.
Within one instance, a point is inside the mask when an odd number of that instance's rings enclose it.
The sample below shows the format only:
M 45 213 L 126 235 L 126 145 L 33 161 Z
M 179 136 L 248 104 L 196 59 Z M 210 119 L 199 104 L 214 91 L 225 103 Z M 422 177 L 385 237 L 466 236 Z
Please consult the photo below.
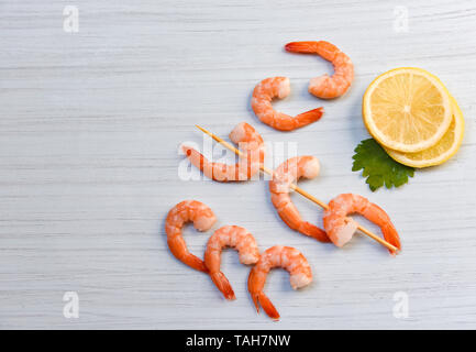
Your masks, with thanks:
M 263 293 L 266 276 L 274 267 L 283 267 L 289 272 L 289 279 L 294 289 L 309 285 L 312 282 L 312 272 L 307 258 L 294 248 L 275 245 L 263 252 L 259 261 L 250 273 L 248 290 L 255 304 L 256 311 L 259 312 L 261 305 L 270 318 L 277 320 L 279 319 L 278 311 Z

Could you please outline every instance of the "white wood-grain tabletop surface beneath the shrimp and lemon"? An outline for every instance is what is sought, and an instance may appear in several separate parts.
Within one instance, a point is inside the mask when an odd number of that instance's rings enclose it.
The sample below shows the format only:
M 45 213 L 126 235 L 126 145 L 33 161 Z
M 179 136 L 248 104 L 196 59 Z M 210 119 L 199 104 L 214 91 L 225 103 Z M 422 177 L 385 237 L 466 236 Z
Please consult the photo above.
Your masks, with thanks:
M 68 4 L 79 9 L 79 33 L 63 30 Z M 408 9 L 408 32 L 395 30 L 397 6 Z M 1 1 L 0 328 L 476 328 L 475 34 L 472 0 Z M 352 57 L 344 98 L 307 92 L 331 66 L 284 52 L 296 40 L 328 40 Z M 446 84 L 466 135 L 445 165 L 372 194 L 351 172 L 368 136 L 361 99 L 373 78 L 400 66 Z M 279 109 L 323 106 L 322 120 L 291 133 L 257 121 L 252 89 L 276 75 L 292 88 Z M 226 136 L 241 121 L 321 160 L 306 190 L 324 200 L 352 191 L 384 207 L 402 254 L 361 235 L 339 250 L 290 231 L 263 182 L 178 179 L 177 145 L 202 143 L 195 123 Z M 310 287 L 294 292 L 284 271 L 268 277 L 281 321 L 256 315 L 235 252 L 222 265 L 233 302 L 171 256 L 164 219 L 190 198 L 215 211 L 215 228 L 240 224 L 262 250 L 286 244 L 308 257 Z M 294 199 L 321 223 L 320 209 Z M 202 253 L 210 233 L 187 228 L 190 250 Z M 65 292 L 79 295 L 78 319 L 63 316 Z M 407 319 L 394 317 L 397 292 L 408 294 Z

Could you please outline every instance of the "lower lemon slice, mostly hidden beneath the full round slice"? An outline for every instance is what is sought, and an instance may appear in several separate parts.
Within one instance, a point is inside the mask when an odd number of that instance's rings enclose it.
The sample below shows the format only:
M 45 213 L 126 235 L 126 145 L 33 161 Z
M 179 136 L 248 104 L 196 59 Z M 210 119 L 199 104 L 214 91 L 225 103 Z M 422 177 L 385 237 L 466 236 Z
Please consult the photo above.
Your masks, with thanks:
M 401 153 L 386 148 L 388 155 L 397 162 L 412 167 L 428 167 L 440 165 L 452 157 L 463 141 L 464 118 L 456 100 L 451 98 L 453 107 L 453 121 L 450 129 L 435 145 L 418 153 Z

